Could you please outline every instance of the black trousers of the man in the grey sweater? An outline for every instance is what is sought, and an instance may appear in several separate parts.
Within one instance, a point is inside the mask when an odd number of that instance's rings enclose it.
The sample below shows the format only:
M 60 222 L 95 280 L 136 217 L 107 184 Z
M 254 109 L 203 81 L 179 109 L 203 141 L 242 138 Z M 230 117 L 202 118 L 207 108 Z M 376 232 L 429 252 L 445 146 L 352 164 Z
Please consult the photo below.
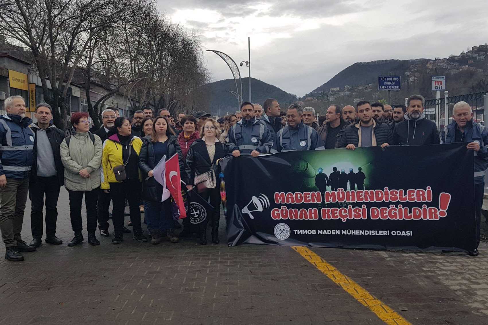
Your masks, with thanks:
M 58 175 L 51 177 L 37 177 L 35 182 L 29 183 L 29 199 L 31 200 L 31 231 L 32 238 L 41 238 L 44 232 L 44 194 L 46 202 L 46 236 L 56 235 L 56 221 L 58 220 L 58 198 L 61 184 Z

